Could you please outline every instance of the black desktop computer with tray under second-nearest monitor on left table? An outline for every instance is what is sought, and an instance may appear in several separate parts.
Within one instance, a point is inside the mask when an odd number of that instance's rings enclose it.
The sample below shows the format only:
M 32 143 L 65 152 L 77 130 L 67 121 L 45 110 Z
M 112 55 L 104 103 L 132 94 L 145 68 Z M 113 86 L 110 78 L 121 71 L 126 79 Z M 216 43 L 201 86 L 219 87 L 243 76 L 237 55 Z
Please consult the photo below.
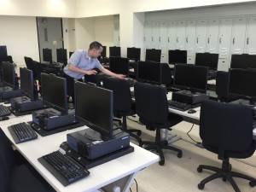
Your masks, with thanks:
M 33 112 L 32 121 L 28 124 L 42 137 L 84 125 L 76 121 L 74 113 L 62 115 L 54 108 Z

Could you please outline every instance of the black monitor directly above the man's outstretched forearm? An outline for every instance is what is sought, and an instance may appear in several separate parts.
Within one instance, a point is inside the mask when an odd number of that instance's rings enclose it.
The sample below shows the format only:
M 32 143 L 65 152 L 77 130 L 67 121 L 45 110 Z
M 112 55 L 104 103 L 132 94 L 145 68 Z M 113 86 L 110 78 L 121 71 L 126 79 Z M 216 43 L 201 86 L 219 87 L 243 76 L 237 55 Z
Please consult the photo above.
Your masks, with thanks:
M 129 76 L 129 60 L 122 57 L 109 57 L 109 70 L 113 73 Z

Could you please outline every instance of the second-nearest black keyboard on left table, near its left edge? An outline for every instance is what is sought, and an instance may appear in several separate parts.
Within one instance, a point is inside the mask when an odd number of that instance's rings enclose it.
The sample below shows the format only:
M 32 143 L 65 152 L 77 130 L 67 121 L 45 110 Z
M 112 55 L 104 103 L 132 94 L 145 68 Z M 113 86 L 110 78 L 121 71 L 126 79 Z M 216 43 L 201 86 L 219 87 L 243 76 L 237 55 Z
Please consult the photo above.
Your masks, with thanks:
M 26 123 L 11 125 L 8 127 L 8 129 L 9 133 L 15 140 L 15 143 L 23 143 L 38 138 L 37 133 L 32 130 L 30 125 L 27 125 Z

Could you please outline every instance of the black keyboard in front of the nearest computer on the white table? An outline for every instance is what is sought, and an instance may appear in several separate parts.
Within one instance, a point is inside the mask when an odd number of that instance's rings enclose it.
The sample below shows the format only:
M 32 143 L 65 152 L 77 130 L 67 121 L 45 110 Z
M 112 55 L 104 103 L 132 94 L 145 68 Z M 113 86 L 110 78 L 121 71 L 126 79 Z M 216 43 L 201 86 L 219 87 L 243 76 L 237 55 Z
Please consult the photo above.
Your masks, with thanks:
M 61 154 L 60 151 L 46 154 L 38 161 L 64 186 L 90 175 L 86 168 L 73 160 L 72 157 Z

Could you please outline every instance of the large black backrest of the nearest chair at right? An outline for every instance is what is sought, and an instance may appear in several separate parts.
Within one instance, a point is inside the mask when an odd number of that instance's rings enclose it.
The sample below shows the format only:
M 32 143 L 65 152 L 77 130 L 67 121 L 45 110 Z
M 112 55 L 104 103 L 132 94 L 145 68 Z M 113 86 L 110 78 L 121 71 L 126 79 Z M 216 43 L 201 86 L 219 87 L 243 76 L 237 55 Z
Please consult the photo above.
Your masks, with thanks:
M 253 145 L 252 109 L 210 100 L 202 102 L 200 137 L 203 145 L 219 151 L 236 153 L 249 150 Z

